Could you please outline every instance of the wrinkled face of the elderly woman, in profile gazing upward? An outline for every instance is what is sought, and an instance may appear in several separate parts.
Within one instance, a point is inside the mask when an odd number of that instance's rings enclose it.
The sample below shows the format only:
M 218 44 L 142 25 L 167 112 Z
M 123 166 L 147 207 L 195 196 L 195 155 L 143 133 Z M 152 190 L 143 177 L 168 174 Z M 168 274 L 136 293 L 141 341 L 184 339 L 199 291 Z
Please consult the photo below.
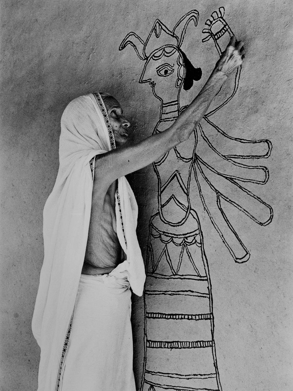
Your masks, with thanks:
M 123 110 L 115 98 L 105 97 L 103 102 L 112 126 L 116 147 L 122 147 L 128 140 L 130 122 L 123 116 Z

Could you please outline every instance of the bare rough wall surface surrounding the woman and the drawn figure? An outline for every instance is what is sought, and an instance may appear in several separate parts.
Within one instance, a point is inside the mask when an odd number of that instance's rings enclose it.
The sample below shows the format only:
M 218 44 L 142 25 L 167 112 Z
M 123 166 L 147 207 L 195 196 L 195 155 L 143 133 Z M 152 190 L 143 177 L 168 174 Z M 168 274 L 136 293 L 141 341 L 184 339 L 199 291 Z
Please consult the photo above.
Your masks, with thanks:
M 196 29 L 188 27 L 185 52 L 202 67 L 200 88 L 217 59 L 211 46 L 201 44 L 201 30 L 220 6 L 245 41 L 247 59 L 237 95 L 218 124 L 235 137 L 272 141 L 270 158 L 261 162 L 270 180 L 256 194 L 273 206 L 274 218 L 261 227 L 237 215 L 236 228 L 251 253 L 247 263 L 236 264 L 216 233 L 206 243 L 218 369 L 225 391 L 293 389 L 291 3 L 39 0 L 1 5 L 1 390 L 37 387 L 39 348 L 30 322 L 43 262 L 42 211 L 57 174 L 63 109 L 78 95 L 109 91 L 133 121 L 133 139 L 150 135 L 158 101 L 149 85 L 138 83 L 142 63 L 134 50 L 119 52 L 119 44 L 129 31 L 145 39 L 156 18 L 172 27 L 196 8 L 200 20 Z M 146 257 L 149 217 L 157 208 L 152 167 L 130 181 Z M 135 297 L 137 384 L 143 327 L 143 300 Z

